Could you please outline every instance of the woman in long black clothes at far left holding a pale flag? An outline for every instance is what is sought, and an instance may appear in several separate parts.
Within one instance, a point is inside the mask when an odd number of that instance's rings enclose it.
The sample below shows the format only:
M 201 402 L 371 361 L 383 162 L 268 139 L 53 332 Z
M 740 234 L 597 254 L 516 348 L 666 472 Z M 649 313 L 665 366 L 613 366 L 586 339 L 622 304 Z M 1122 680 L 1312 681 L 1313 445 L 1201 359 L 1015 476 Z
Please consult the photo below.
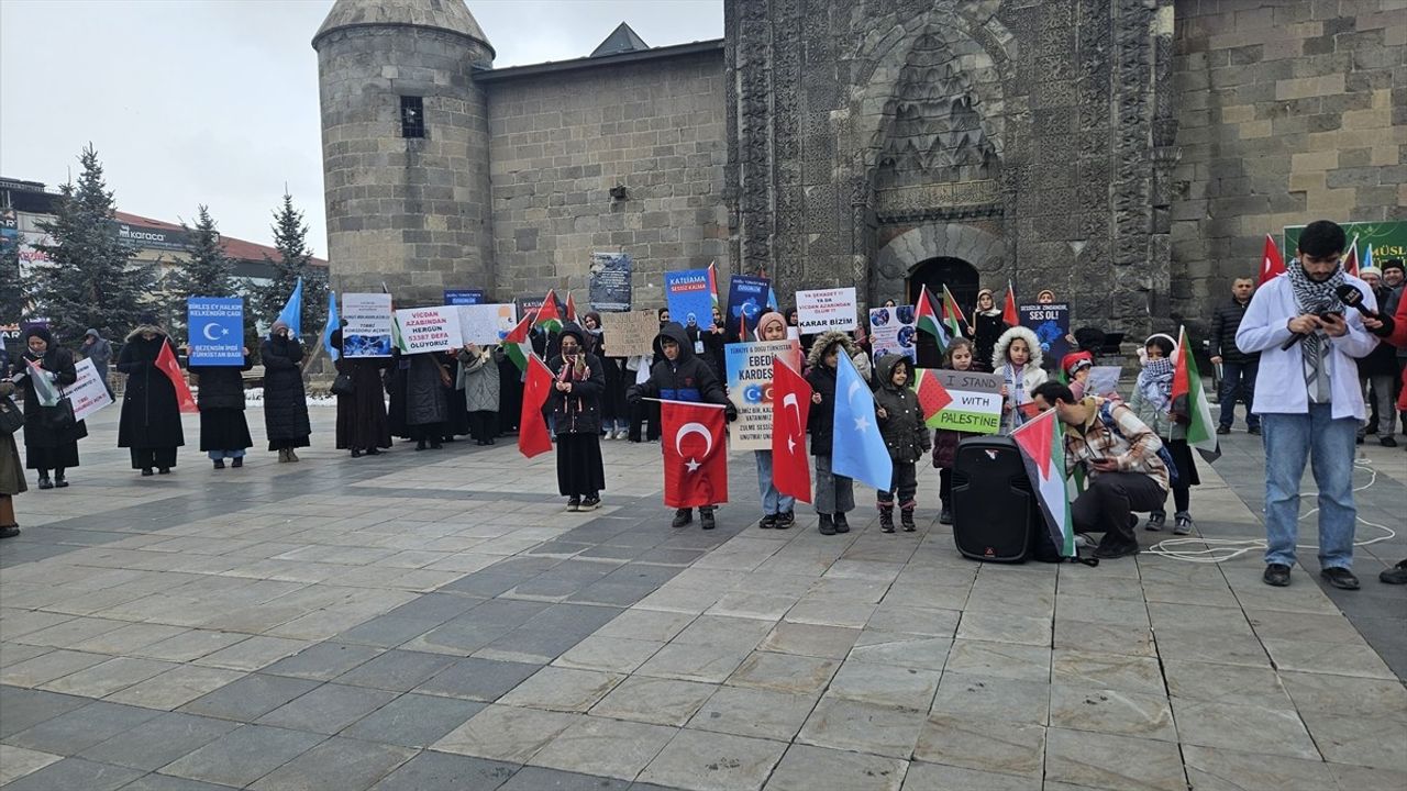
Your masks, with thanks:
M 45 376 L 58 387 L 69 387 L 79 380 L 73 363 L 73 352 L 56 345 L 44 327 L 31 327 L 24 334 L 25 352 L 21 370 L 27 372 L 24 388 L 24 457 L 25 467 L 39 472 L 39 488 L 63 488 L 69 486 L 63 470 L 79 466 L 79 439 L 87 436 L 83 421 L 73 425 L 55 425 L 59 414 L 56 407 L 44 407 L 34 391 L 34 377 Z M 35 372 L 30 365 L 38 365 Z M 49 479 L 53 470 L 53 479 Z

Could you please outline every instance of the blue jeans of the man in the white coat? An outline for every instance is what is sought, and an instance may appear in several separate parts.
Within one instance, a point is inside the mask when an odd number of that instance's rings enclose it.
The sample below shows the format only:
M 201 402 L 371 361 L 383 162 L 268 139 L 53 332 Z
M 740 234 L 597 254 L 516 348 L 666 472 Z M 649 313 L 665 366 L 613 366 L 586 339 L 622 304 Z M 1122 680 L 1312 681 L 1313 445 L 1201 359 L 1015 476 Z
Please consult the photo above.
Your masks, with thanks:
M 1265 562 L 1294 564 L 1300 479 L 1309 460 L 1318 486 L 1318 559 L 1324 569 L 1354 563 L 1354 438 L 1358 421 L 1334 419 L 1331 404 L 1306 415 L 1261 415 L 1265 431 Z

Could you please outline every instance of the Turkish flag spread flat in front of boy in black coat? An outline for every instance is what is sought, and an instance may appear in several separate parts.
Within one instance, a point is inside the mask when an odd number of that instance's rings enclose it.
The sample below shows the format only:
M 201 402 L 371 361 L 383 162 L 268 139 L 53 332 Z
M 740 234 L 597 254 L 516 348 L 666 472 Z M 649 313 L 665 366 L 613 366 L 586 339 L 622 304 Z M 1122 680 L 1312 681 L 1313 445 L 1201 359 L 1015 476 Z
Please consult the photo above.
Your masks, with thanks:
M 660 401 L 664 445 L 664 504 L 694 508 L 727 502 L 727 446 L 723 407 Z

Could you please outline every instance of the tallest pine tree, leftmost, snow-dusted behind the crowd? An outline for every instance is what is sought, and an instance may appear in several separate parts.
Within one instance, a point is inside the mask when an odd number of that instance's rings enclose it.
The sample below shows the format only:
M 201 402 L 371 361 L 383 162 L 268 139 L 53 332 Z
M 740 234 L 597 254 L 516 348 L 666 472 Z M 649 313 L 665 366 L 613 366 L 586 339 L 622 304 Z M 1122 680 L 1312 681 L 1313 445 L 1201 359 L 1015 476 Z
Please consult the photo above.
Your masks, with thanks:
M 58 214 L 39 222 L 53 239 L 39 245 L 51 263 L 32 270 L 38 315 L 70 343 L 87 328 L 122 338 L 152 310 L 156 274 L 132 262 L 136 251 L 117 234 L 115 200 L 103 180 L 103 165 L 89 144 L 79 156 L 77 184 L 59 187 Z

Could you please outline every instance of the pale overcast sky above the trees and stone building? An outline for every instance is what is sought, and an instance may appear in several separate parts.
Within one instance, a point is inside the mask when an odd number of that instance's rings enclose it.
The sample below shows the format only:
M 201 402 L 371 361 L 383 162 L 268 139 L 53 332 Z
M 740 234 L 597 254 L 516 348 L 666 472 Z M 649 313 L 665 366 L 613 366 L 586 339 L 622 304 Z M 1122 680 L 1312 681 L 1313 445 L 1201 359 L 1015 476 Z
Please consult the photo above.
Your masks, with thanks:
M 63 183 L 89 141 L 118 208 L 267 243 L 284 184 L 318 256 L 318 61 L 332 0 L 0 0 L 0 175 Z M 722 0 L 470 0 L 495 66 L 723 35 Z

